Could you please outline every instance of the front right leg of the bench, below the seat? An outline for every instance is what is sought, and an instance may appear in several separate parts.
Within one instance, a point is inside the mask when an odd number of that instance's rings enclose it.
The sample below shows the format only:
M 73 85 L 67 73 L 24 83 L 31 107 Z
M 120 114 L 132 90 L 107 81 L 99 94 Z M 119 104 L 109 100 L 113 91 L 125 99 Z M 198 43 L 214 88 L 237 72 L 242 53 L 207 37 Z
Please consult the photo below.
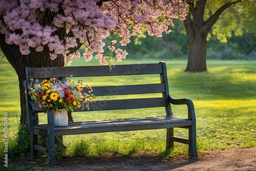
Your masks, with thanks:
M 196 125 L 189 126 L 188 129 L 188 156 L 198 157 L 197 155 L 197 136 Z

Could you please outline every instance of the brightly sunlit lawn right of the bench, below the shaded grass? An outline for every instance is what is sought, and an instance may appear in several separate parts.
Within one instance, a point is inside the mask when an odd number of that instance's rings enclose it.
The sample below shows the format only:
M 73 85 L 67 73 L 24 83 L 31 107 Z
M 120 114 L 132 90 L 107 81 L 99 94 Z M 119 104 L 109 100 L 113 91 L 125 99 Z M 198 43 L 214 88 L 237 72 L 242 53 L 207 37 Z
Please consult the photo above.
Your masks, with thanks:
M 197 136 L 199 141 L 208 140 L 208 148 L 255 144 L 256 99 L 195 103 L 200 111 L 197 112 Z

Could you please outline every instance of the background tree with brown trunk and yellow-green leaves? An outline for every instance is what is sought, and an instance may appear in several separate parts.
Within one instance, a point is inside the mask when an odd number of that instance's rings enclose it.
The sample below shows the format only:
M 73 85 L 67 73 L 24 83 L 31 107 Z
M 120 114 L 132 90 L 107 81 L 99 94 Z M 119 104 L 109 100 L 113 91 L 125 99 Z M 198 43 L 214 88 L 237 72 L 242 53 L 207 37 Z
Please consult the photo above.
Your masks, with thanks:
M 189 4 L 184 26 L 189 37 L 189 58 L 185 71 L 204 72 L 206 67 L 207 38 L 210 31 L 221 42 L 227 37 L 242 35 L 255 24 L 255 1 L 186 1 Z M 238 4 L 239 5 L 236 5 Z M 247 21 L 245 20 L 247 19 Z M 251 22 L 251 24 L 248 24 Z M 246 29 L 247 28 L 247 29 Z M 253 26 L 255 28 L 255 25 Z M 255 30 L 255 29 L 254 29 Z M 254 31 L 253 30 L 253 31 Z

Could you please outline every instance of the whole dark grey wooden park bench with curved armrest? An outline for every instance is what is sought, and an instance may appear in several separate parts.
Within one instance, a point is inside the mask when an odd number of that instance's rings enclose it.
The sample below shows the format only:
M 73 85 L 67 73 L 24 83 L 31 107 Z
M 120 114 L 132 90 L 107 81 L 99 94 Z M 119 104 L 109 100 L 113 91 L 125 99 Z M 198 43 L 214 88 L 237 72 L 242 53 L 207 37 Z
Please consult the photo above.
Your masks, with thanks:
M 110 76 L 113 79 L 112 85 L 93 87 L 93 94 L 96 96 L 96 102 L 90 104 L 90 111 L 76 109 L 74 112 L 92 112 L 102 110 L 124 110 L 124 109 L 144 109 L 144 108 L 163 108 L 161 116 L 145 116 L 135 118 L 119 118 L 113 120 L 69 122 L 67 127 L 54 127 L 53 110 L 39 108 L 37 102 L 30 100 L 26 95 L 27 113 L 29 118 L 30 136 L 31 136 L 31 158 L 38 158 L 38 151 L 47 153 L 47 162 L 55 165 L 55 136 L 103 133 L 103 132 L 121 132 L 136 130 L 154 130 L 166 129 L 166 149 L 174 147 L 174 141 L 188 144 L 188 155 L 197 157 L 196 147 L 196 116 L 194 104 L 190 99 L 174 99 L 169 94 L 167 81 L 167 71 L 165 62 L 153 64 L 135 64 L 135 65 L 117 65 L 113 66 L 111 71 L 109 66 L 83 66 L 83 67 L 49 67 L 49 68 L 26 68 L 27 80 L 25 80 L 25 91 L 29 85 L 30 78 L 42 79 L 52 77 L 87 77 L 101 79 L 98 76 Z M 129 85 L 132 75 L 138 76 L 139 84 Z M 143 75 L 143 76 L 141 76 Z M 122 76 L 127 79 L 125 84 L 116 85 L 113 76 Z M 146 79 L 145 76 L 148 76 Z M 142 79 L 144 78 L 144 79 Z M 157 83 L 150 83 L 151 80 L 157 80 Z M 134 82 L 134 80 L 133 80 Z M 135 95 L 137 98 L 134 98 Z M 142 94 L 150 94 L 150 97 L 141 98 Z M 133 95 L 132 98 L 118 98 L 112 100 L 97 100 L 100 96 L 118 96 Z M 121 96 L 123 97 L 123 96 Z M 173 114 L 170 104 L 186 104 L 187 117 L 177 117 Z M 47 124 L 38 124 L 35 119 L 35 113 L 47 111 Z M 79 113 L 78 113 L 79 114 Z M 82 117 L 79 117 L 82 118 Z M 174 136 L 174 127 L 188 129 L 188 138 Z M 47 136 L 47 147 L 37 144 L 37 136 Z

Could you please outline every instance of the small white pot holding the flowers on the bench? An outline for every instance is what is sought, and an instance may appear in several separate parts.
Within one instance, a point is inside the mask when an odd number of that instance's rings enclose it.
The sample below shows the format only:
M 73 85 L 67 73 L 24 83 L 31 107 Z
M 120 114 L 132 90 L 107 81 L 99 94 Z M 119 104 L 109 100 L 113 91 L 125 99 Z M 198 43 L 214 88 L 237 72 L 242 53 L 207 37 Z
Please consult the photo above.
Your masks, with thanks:
M 68 126 L 68 111 L 66 109 L 53 110 L 54 126 Z

